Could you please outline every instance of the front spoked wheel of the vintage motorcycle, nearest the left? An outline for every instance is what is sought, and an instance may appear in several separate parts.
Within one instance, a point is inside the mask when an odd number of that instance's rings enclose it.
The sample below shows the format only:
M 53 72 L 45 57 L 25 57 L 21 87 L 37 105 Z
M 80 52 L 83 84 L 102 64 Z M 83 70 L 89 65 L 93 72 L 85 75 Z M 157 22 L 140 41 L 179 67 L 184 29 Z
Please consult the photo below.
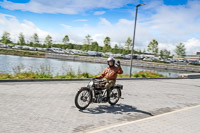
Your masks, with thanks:
M 91 94 L 89 89 L 81 89 L 75 97 L 75 105 L 80 110 L 86 109 L 91 103 Z

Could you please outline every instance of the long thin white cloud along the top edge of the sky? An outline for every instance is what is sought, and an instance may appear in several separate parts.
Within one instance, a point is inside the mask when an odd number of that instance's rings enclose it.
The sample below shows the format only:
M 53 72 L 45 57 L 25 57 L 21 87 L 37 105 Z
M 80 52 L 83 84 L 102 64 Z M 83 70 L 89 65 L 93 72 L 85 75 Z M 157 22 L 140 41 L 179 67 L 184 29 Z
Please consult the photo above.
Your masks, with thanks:
M 31 0 L 29 3 L 14 3 L 4 0 L 0 2 L 0 6 L 9 10 L 23 10 L 35 13 L 77 14 L 89 9 L 120 8 L 128 3 L 132 3 L 132 0 Z

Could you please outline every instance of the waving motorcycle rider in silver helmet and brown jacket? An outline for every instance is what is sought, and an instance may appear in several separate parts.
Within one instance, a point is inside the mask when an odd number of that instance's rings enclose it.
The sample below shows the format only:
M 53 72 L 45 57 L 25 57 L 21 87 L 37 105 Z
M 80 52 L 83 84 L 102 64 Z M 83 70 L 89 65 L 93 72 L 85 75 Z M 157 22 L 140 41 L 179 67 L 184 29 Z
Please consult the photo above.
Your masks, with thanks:
M 108 67 L 106 67 L 103 73 L 100 76 L 96 77 L 96 79 L 105 78 L 105 80 L 107 81 L 105 84 L 105 88 L 107 90 L 107 96 L 109 98 L 109 90 L 115 85 L 117 74 L 122 74 L 123 70 L 121 68 L 120 61 L 117 61 L 117 67 L 115 66 L 115 59 L 113 57 L 109 57 L 107 59 L 107 64 Z

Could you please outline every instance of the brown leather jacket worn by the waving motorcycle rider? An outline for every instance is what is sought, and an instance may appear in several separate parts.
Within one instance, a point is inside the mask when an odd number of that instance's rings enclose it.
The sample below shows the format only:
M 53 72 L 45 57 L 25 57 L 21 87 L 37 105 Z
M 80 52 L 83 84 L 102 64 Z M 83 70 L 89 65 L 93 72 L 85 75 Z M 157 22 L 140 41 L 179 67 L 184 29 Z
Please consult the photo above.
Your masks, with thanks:
M 106 67 L 103 73 L 97 77 L 97 79 L 106 78 L 107 80 L 116 80 L 117 74 L 122 74 L 123 70 L 121 67 Z

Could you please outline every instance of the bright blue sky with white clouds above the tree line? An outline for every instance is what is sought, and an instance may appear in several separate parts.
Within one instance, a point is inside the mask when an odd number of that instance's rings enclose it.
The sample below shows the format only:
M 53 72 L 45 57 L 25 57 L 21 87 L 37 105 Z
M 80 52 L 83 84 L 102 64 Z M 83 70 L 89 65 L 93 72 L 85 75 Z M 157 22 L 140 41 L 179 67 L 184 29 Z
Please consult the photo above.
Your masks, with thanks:
M 0 35 L 19 33 L 30 40 L 38 33 L 40 41 L 49 34 L 55 43 L 69 35 L 72 43 L 82 44 L 87 34 L 103 45 L 124 46 L 133 36 L 136 5 L 139 7 L 136 49 L 146 49 L 152 39 L 160 49 L 171 50 L 180 42 L 188 54 L 200 51 L 199 0 L 0 0 Z

